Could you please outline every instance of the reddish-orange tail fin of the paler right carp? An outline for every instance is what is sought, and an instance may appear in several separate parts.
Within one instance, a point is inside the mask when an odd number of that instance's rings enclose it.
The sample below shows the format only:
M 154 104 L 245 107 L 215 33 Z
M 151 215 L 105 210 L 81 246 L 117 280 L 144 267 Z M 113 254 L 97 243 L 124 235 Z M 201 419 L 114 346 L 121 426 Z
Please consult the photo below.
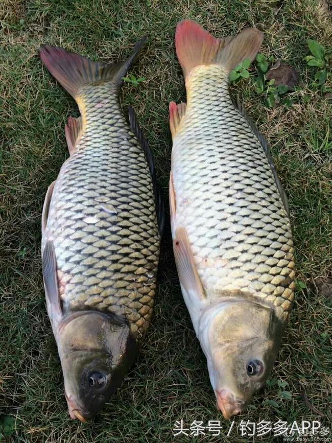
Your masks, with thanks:
M 230 73 L 249 58 L 253 61 L 263 41 L 263 33 L 246 28 L 232 37 L 215 38 L 193 20 L 183 20 L 176 27 L 175 47 L 184 77 L 195 66 L 219 64 Z

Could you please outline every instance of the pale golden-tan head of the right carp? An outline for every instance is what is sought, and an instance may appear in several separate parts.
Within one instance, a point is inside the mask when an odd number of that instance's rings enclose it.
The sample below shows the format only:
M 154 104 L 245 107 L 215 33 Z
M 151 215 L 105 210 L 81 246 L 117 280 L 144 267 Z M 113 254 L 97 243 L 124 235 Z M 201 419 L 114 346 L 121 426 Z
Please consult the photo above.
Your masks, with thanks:
M 274 311 L 254 302 L 227 302 L 212 317 L 203 348 L 217 406 L 226 419 L 241 412 L 265 384 L 281 335 Z

